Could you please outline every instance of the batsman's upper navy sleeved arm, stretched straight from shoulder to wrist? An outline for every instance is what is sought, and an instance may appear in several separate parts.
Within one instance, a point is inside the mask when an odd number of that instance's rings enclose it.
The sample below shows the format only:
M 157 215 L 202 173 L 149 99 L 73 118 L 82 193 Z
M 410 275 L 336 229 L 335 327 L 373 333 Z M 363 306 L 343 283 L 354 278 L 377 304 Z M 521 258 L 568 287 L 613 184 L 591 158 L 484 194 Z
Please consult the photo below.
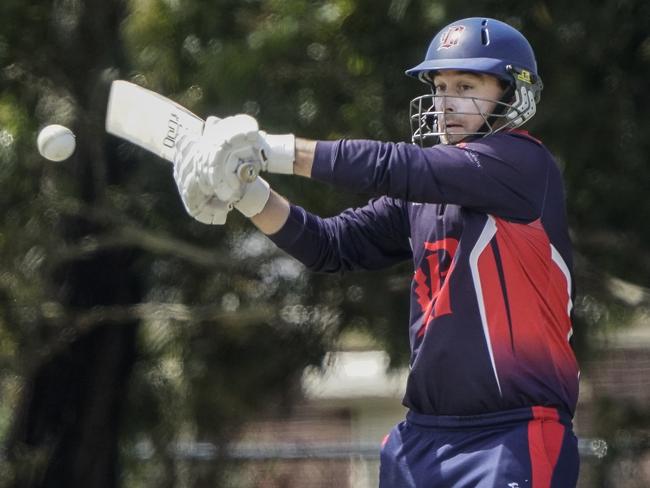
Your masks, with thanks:
M 311 178 L 342 190 L 530 222 L 541 215 L 552 167 L 541 144 L 509 133 L 427 148 L 342 139 L 319 142 Z

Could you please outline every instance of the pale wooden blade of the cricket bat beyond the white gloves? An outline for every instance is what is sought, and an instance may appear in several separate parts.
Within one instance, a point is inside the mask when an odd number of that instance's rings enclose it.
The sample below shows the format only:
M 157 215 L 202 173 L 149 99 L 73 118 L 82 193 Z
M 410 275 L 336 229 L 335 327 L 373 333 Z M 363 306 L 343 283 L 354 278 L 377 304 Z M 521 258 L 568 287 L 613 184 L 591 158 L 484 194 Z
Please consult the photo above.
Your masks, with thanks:
M 200 135 L 204 121 L 178 103 L 134 83 L 111 84 L 106 131 L 173 162 L 181 130 Z

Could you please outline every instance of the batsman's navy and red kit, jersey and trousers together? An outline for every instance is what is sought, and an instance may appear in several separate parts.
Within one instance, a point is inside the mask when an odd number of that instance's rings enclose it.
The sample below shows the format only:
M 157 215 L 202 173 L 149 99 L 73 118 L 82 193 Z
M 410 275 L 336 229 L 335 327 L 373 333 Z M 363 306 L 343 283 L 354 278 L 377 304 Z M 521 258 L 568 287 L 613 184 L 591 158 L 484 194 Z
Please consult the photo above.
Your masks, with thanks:
M 381 487 L 575 486 L 571 243 L 546 148 L 519 131 L 319 142 L 312 177 L 375 198 L 330 218 L 292 206 L 279 247 L 314 271 L 413 263 L 410 411 L 382 449 Z

